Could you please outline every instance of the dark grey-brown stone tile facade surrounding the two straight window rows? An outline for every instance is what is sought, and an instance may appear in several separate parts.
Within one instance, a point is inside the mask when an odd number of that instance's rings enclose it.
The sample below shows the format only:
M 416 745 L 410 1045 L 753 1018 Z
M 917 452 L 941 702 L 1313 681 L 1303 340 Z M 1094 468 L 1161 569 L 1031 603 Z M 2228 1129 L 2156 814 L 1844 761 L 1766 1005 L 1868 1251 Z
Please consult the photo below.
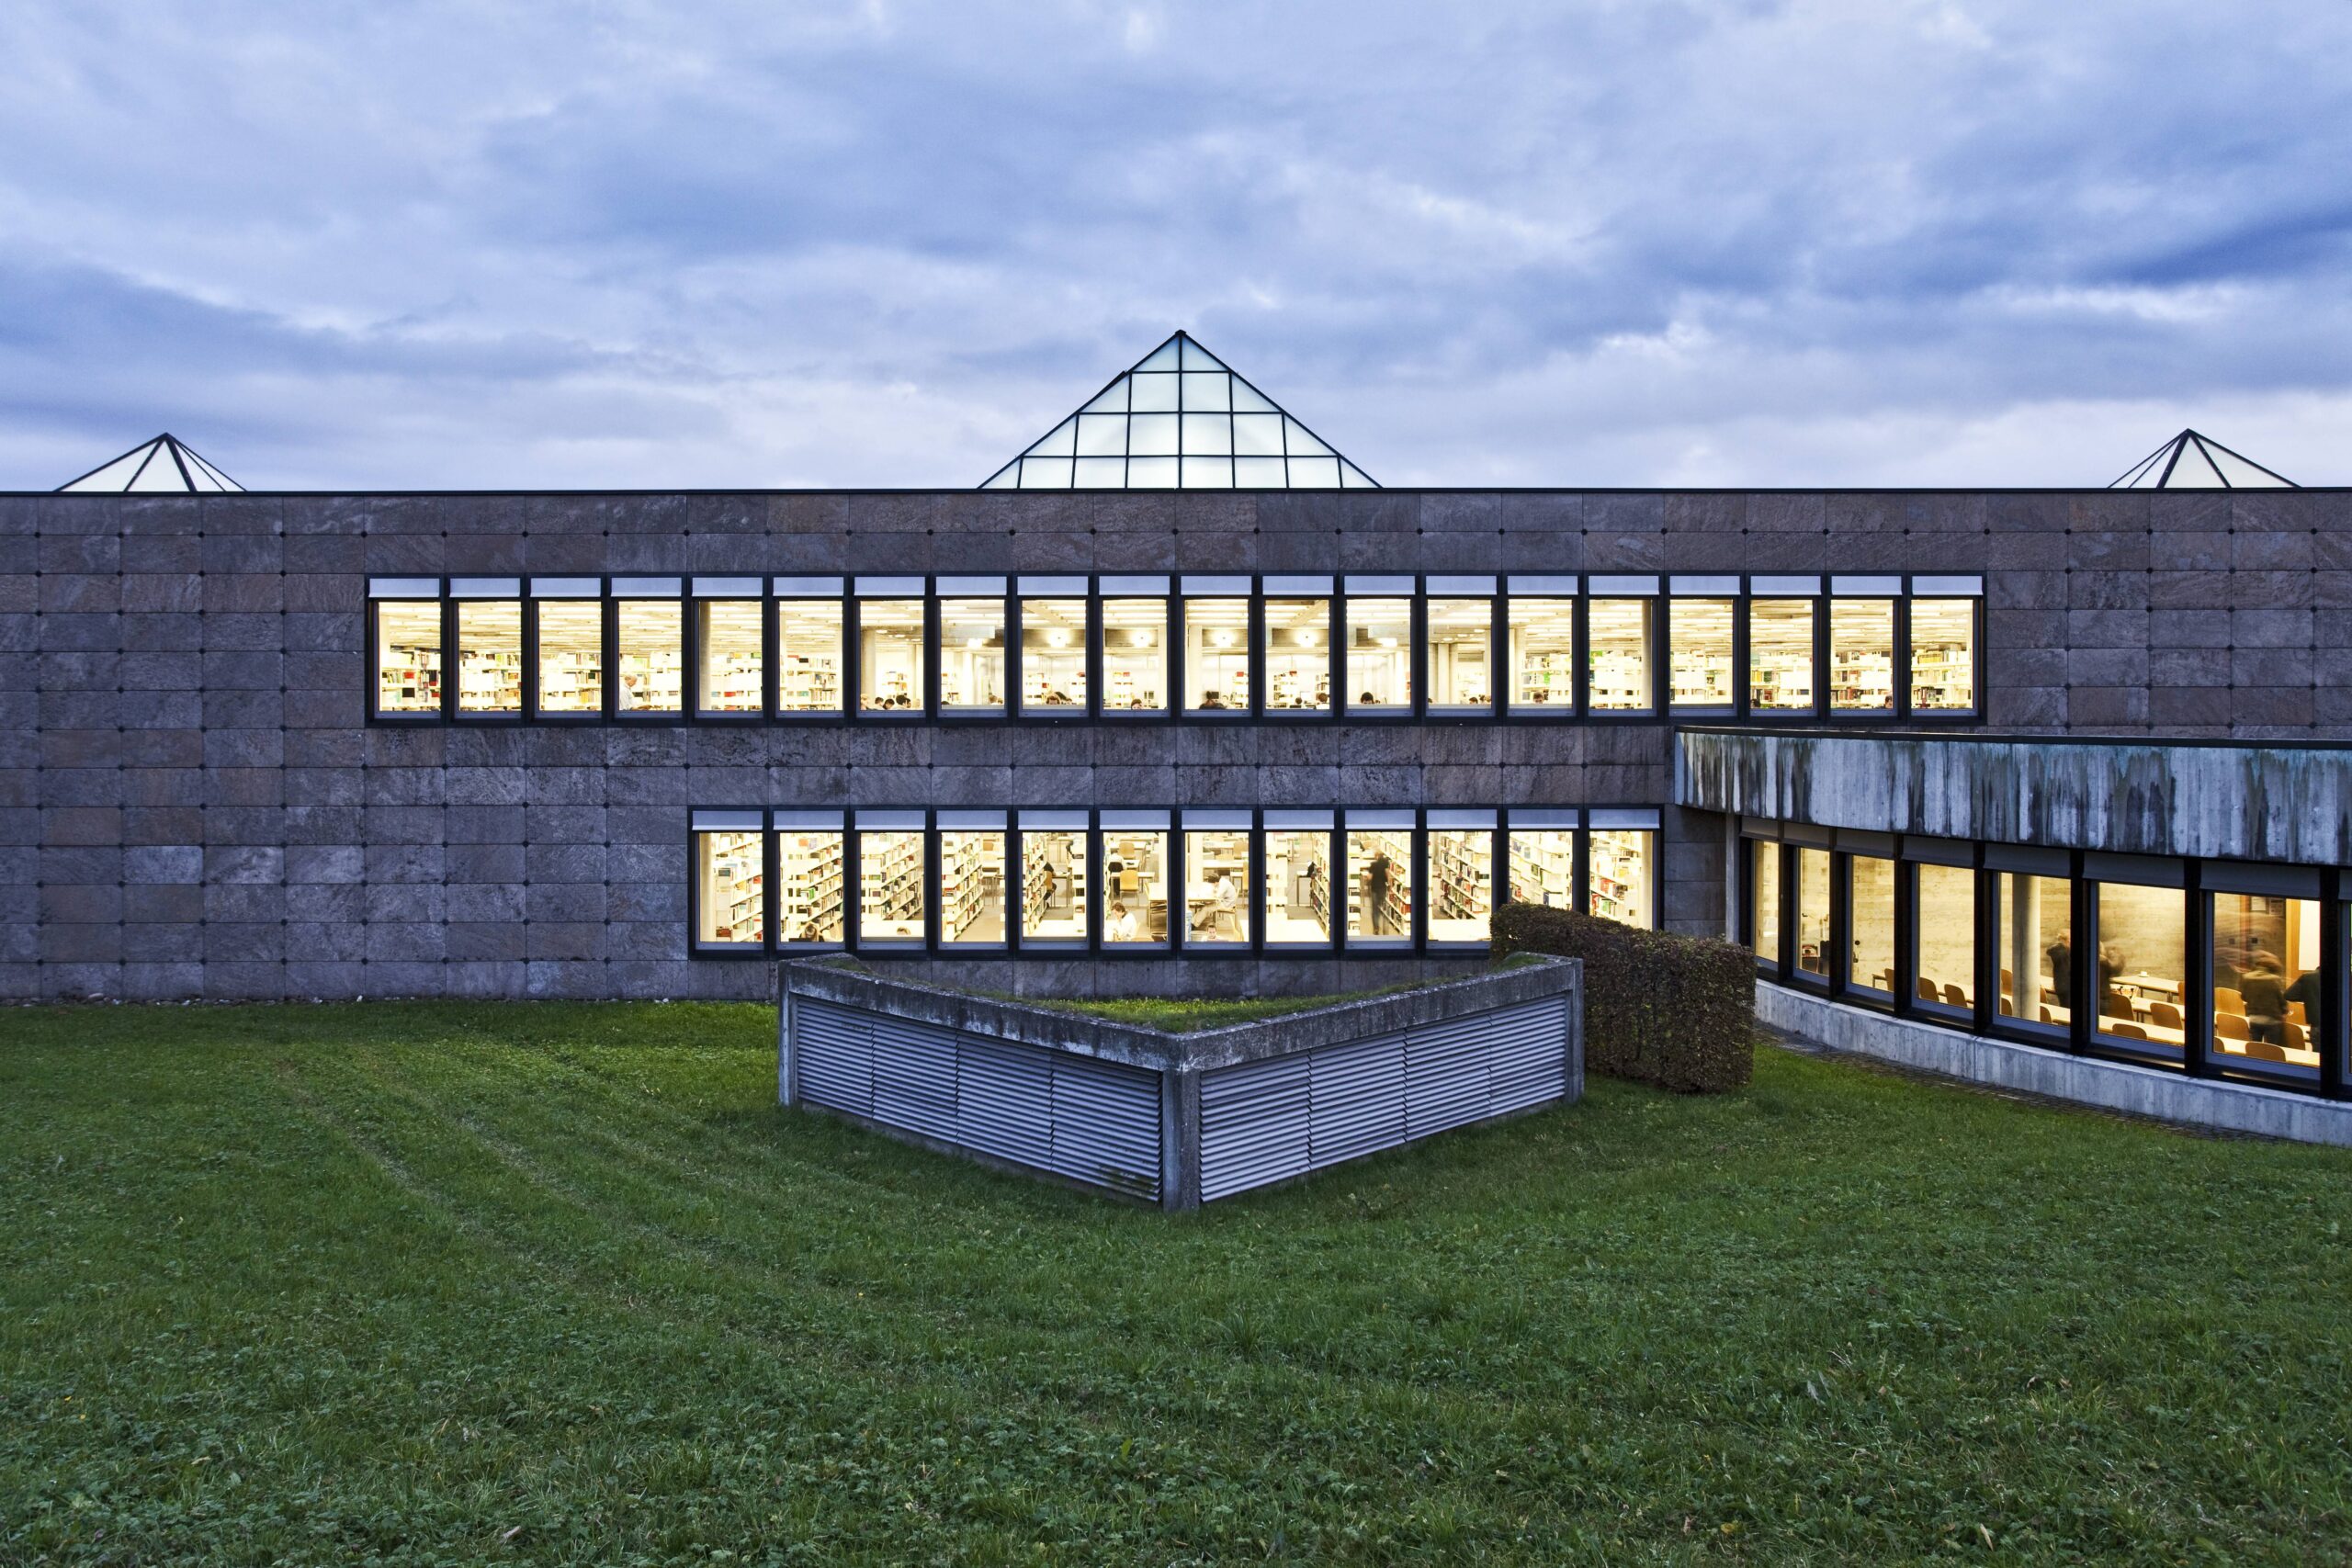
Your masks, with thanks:
M 369 574 L 1983 574 L 1985 729 L 2352 738 L 2352 496 L 0 496 L 0 994 L 743 997 L 713 804 L 1672 799 L 1658 722 L 367 726 Z M 1668 809 L 1670 926 L 1719 929 Z

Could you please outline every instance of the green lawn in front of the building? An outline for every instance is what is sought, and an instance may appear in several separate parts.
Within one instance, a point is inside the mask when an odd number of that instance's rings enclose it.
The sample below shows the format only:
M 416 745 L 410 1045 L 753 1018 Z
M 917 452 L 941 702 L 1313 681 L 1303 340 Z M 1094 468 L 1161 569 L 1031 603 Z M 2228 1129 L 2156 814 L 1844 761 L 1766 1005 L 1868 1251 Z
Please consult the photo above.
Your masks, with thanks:
M 0 1013 L 0 1561 L 2312 1561 L 2352 1157 L 1764 1053 L 1192 1218 L 720 1006 Z

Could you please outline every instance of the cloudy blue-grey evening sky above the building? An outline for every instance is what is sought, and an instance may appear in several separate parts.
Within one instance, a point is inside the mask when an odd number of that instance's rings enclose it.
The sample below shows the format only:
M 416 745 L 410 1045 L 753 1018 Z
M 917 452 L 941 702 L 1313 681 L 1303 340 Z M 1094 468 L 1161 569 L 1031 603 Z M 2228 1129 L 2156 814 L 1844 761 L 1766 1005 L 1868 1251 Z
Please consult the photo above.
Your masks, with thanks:
M 0 7 L 0 487 L 2352 482 L 2340 0 Z

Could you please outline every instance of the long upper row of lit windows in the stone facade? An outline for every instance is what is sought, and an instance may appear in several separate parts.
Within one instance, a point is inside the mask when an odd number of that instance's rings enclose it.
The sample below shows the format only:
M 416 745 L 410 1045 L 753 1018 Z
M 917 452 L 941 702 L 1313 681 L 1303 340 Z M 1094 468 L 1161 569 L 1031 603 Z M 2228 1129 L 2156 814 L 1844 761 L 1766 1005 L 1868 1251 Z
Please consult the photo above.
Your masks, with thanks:
M 1971 719 L 1980 595 L 1929 576 L 374 578 L 369 715 Z

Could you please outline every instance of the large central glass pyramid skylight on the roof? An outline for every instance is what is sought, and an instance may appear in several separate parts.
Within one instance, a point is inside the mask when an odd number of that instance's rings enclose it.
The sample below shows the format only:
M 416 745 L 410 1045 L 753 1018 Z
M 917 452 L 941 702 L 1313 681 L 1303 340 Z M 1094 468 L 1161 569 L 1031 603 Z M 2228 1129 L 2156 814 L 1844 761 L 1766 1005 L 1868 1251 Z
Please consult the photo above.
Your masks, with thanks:
M 1178 331 L 981 489 L 1378 489 Z

